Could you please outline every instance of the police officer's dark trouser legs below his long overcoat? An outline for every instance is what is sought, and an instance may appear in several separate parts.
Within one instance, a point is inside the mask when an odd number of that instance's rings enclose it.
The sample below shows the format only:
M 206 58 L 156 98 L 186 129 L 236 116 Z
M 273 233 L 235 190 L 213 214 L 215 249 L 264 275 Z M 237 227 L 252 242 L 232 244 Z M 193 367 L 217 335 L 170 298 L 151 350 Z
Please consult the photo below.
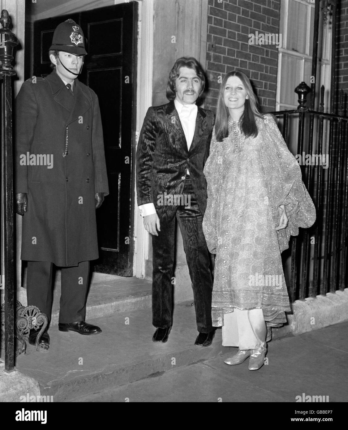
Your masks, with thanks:
M 28 306 L 37 306 L 51 319 L 52 269 L 49 261 L 28 261 Z M 59 322 L 84 321 L 89 276 L 89 261 L 81 261 L 76 267 L 62 267 L 62 293 Z

